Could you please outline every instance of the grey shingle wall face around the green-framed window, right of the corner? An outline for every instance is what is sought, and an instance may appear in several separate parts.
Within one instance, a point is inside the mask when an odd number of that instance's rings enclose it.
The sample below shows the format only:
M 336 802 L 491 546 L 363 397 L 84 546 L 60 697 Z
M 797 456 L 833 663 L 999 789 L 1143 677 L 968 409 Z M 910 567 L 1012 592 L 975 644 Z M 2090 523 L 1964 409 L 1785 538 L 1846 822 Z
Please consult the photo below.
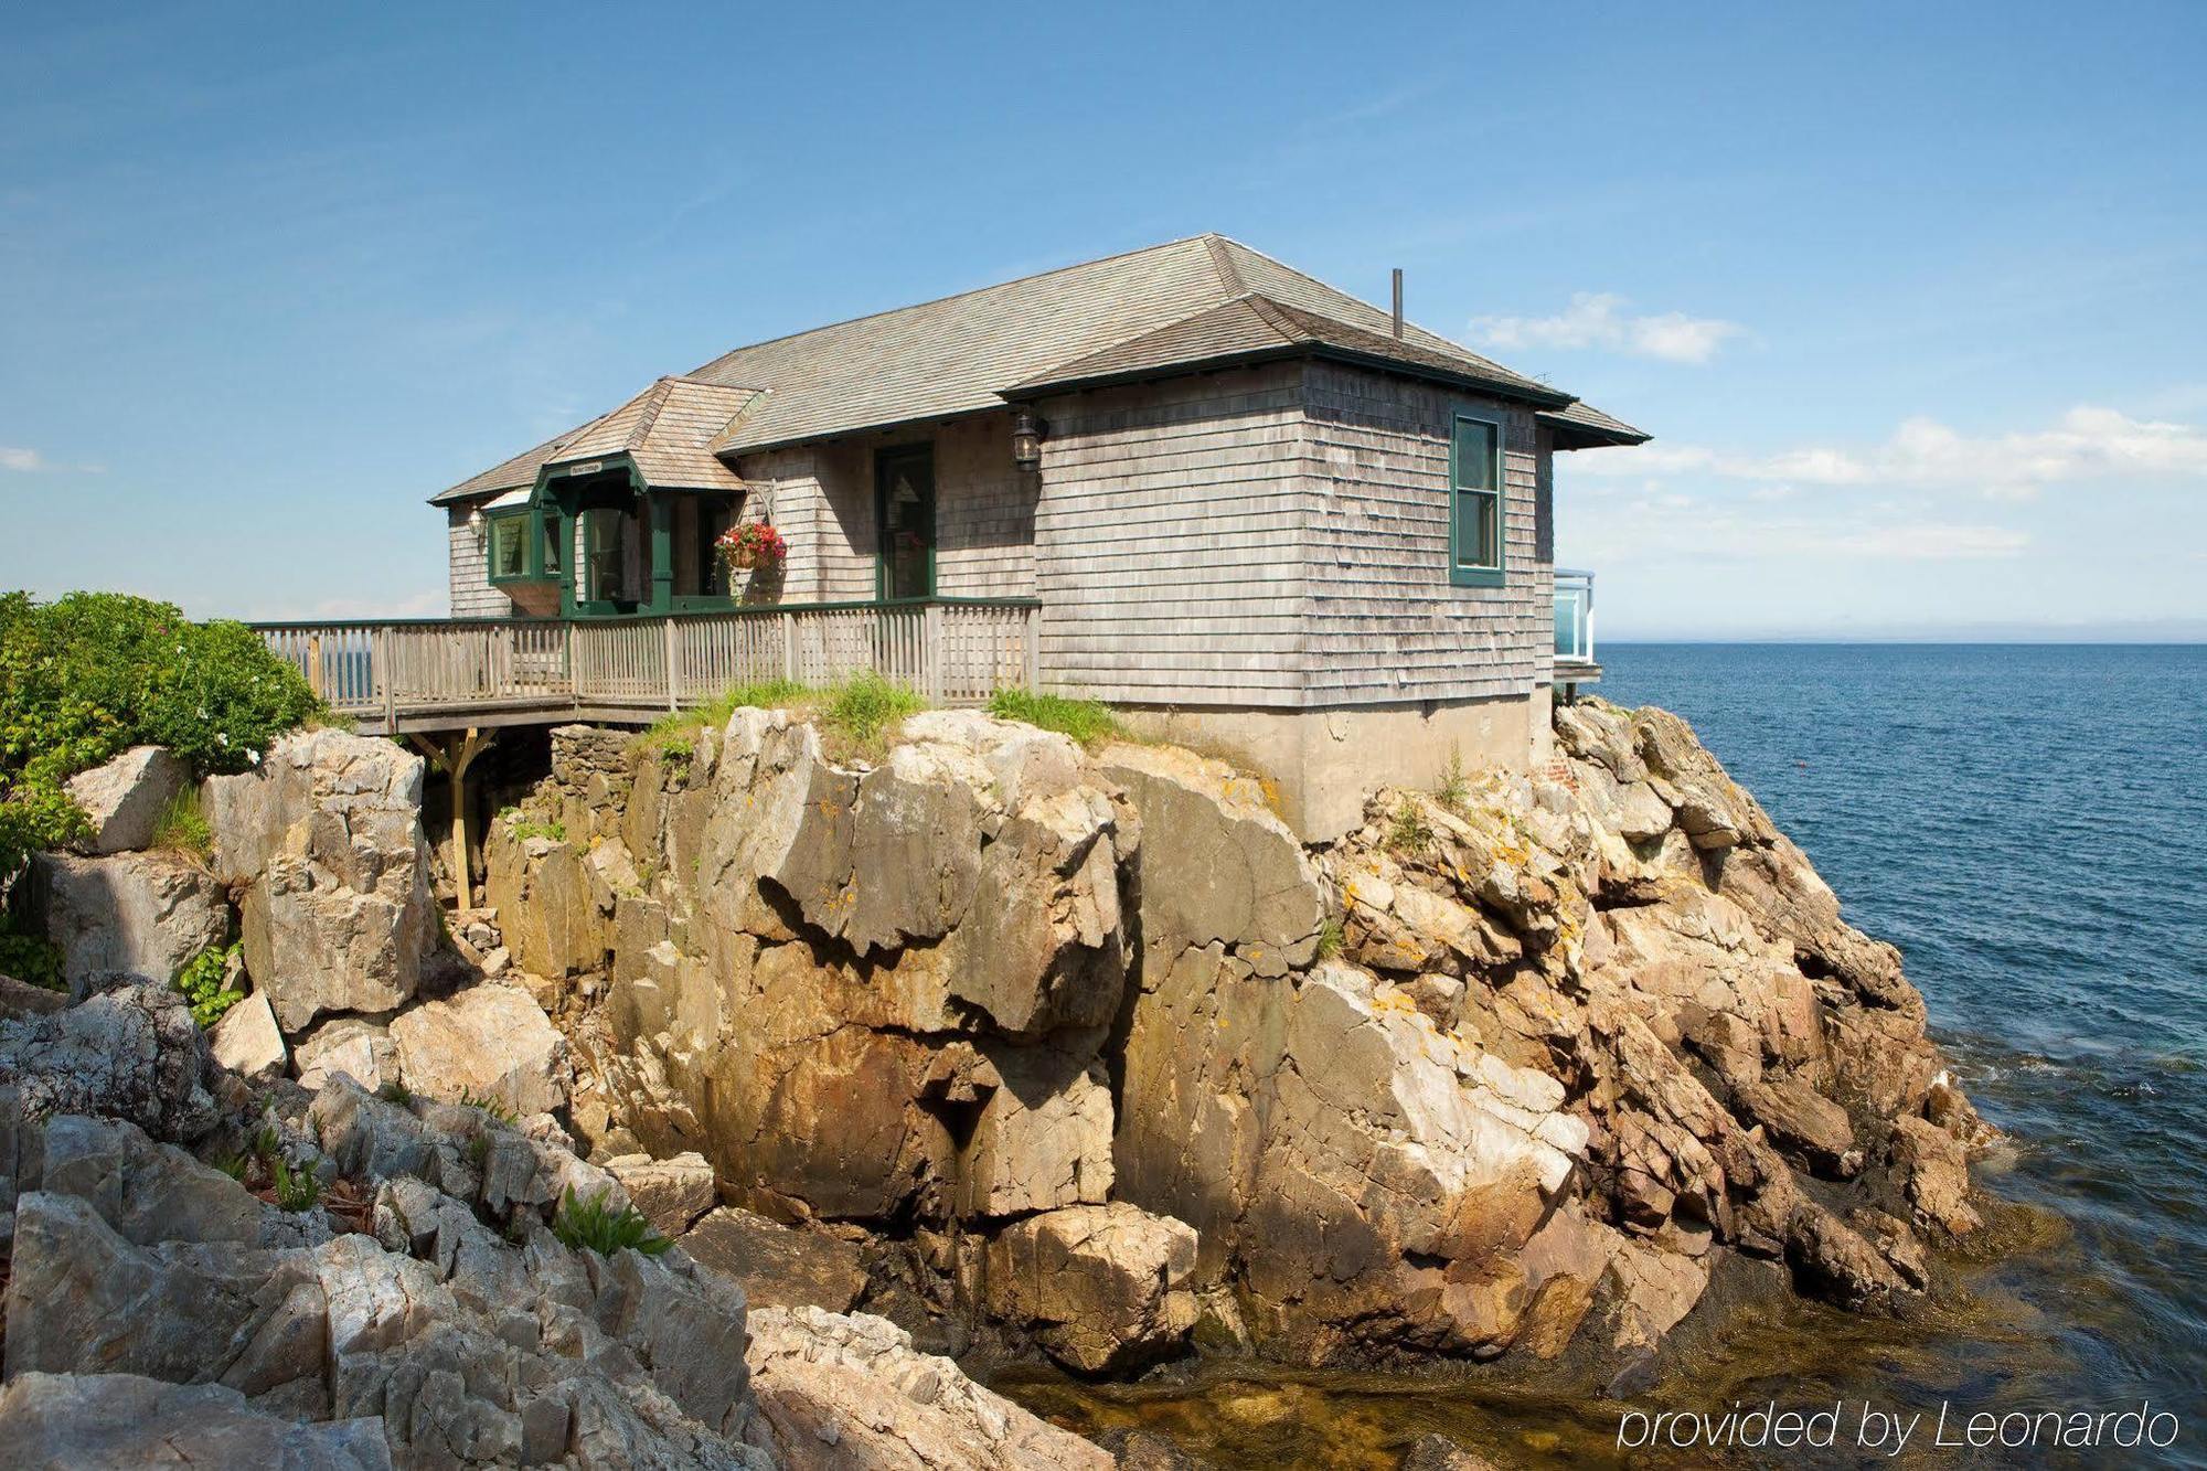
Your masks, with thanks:
M 1311 705 L 1523 696 L 1554 654 L 1552 455 L 1532 411 L 1410 378 L 1304 369 Z M 1501 588 L 1448 581 L 1457 413 L 1501 420 Z

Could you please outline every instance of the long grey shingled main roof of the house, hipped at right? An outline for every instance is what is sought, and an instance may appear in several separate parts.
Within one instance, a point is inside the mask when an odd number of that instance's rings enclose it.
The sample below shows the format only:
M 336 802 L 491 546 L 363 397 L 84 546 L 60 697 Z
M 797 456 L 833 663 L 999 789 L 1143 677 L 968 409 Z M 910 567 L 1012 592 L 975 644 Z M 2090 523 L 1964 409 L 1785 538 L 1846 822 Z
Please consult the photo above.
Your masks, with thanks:
M 1404 336 L 1395 338 L 1393 318 L 1379 307 L 1218 234 L 739 347 L 660 384 L 735 395 L 704 446 L 711 457 L 1002 409 L 1011 398 L 1033 398 L 1048 387 L 1309 351 L 1437 375 L 1536 409 L 1574 406 L 1569 393 L 1424 327 L 1404 325 Z M 660 384 L 435 499 L 534 484 L 543 464 L 574 457 L 574 446 L 596 442 L 600 426 L 614 433 L 611 422 Z M 711 413 L 719 404 L 686 395 L 686 406 Z M 1609 415 L 1589 413 L 1638 435 Z

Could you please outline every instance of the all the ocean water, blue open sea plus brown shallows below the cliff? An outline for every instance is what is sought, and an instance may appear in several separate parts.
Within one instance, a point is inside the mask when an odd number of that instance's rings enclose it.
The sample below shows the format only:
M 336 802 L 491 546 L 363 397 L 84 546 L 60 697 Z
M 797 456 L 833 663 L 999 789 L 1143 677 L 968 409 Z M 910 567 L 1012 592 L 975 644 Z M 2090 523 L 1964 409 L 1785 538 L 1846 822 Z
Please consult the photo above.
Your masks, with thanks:
M 1600 694 L 1693 722 L 1900 945 L 1931 1029 L 2008 1133 L 2008 1202 L 1902 1319 L 1755 1303 L 1620 1405 L 1459 1378 L 1220 1365 L 1192 1383 L 1006 1383 L 1086 1433 L 1220 1469 L 1390 1471 L 1426 1431 L 1496 1464 L 2207 1467 L 2207 647 L 1604 645 Z M 1695 1323 L 1695 1319 L 1688 1319 Z M 1905 1458 L 1618 1447 L 1620 1414 L 1922 1414 Z M 2165 1451 L 1929 1449 L 1971 1414 L 2178 1416 Z

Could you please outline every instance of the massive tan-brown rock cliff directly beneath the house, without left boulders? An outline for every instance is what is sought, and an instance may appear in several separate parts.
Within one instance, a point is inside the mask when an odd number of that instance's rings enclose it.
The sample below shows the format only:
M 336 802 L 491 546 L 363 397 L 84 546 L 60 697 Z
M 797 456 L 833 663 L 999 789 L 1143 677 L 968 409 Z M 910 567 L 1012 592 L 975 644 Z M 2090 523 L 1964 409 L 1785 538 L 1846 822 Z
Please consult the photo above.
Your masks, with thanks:
M 1607 1374 L 1717 1272 L 1920 1292 L 1984 1135 L 1898 954 L 1677 718 L 1556 733 L 1313 850 L 1216 762 L 973 713 L 850 766 L 576 729 L 490 897 L 587 1142 L 700 1153 L 947 1347 Z

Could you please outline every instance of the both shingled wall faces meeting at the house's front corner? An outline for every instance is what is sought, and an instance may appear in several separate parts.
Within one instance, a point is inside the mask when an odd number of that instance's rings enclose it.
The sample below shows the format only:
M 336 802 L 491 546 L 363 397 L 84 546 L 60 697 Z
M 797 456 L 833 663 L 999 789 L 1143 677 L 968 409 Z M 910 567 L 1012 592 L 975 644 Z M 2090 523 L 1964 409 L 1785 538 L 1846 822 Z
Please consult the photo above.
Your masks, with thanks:
M 1278 364 L 1046 404 L 1053 689 L 1179 707 L 1523 698 L 1547 682 L 1547 442 L 1532 413 Z M 1448 579 L 1454 413 L 1505 424 L 1501 588 Z

